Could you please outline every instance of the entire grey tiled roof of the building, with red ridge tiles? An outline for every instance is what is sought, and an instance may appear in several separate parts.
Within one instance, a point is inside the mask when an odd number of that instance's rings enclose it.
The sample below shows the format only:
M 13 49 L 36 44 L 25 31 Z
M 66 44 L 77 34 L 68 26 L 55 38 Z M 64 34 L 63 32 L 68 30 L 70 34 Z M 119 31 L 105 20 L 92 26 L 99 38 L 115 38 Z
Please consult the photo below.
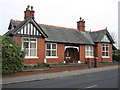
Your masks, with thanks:
M 26 21 L 11 20 L 10 23 L 16 28 L 14 30 L 9 30 L 5 35 L 9 35 L 11 32 L 14 32 L 19 28 L 20 25 L 23 25 Z M 39 24 L 39 26 L 48 36 L 47 38 L 45 38 L 45 40 L 47 42 L 56 43 L 59 42 L 94 45 L 94 42 L 100 42 L 103 36 L 108 33 L 106 29 L 96 32 L 85 32 L 73 28 L 65 28 L 53 25 Z

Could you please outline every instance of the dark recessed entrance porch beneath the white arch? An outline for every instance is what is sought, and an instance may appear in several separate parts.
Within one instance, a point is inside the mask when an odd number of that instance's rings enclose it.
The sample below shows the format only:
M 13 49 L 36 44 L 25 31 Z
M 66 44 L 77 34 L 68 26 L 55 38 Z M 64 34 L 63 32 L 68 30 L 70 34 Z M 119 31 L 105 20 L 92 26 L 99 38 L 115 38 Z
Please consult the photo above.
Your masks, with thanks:
M 71 62 L 71 63 L 77 63 L 78 62 L 78 55 L 79 52 L 76 48 L 67 48 L 65 51 L 65 61 Z

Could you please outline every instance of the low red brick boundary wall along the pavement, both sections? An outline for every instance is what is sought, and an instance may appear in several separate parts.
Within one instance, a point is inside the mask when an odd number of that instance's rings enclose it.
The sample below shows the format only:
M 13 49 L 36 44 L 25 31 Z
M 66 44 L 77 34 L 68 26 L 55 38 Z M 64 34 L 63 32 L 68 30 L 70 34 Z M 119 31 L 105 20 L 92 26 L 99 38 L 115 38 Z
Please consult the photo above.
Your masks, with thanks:
M 99 67 L 109 67 L 109 66 L 115 66 L 118 64 L 99 64 Z M 88 69 L 88 65 L 71 65 L 71 66 L 54 66 L 47 70 L 37 70 L 37 71 L 24 71 L 24 72 L 17 72 L 14 74 L 7 74 L 3 75 L 2 77 L 15 77 L 15 76 L 22 76 L 22 75 L 31 75 L 31 74 L 41 74 L 41 73 L 53 73 L 53 72 L 62 72 L 62 71 L 72 71 L 72 70 L 83 70 Z

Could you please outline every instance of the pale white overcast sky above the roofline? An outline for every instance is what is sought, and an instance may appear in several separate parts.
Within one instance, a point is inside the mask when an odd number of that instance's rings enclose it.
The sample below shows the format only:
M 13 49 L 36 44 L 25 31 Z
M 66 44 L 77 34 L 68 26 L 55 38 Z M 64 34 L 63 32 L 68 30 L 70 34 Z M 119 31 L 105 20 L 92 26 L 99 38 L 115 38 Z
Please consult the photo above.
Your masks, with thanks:
M 118 2 L 120 0 L 0 0 L 0 35 L 8 31 L 10 20 L 24 20 L 27 5 L 33 6 L 40 24 L 77 28 L 85 20 L 87 31 L 107 27 L 118 40 Z

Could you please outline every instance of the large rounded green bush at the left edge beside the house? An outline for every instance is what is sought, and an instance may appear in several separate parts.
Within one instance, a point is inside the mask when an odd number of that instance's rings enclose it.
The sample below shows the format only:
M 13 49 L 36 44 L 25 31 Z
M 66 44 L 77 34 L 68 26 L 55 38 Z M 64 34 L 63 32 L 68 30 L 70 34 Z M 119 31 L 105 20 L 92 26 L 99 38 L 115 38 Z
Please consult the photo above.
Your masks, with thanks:
M 25 53 L 10 37 L 2 38 L 2 74 L 15 73 L 23 70 Z

